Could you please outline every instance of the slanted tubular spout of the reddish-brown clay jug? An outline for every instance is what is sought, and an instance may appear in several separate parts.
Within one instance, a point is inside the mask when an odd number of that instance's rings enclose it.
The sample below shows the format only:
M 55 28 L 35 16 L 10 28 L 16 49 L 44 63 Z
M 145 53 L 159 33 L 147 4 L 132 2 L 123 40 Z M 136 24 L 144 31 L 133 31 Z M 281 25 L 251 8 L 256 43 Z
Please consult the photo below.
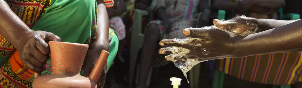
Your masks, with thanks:
M 100 54 L 100 56 L 98 57 L 97 62 L 95 63 L 95 66 L 92 69 L 92 72 L 89 75 L 89 79 L 94 81 L 95 83 L 98 82 L 98 78 L 100 77 L 102 71 L 103 71 L 103 67 L 105 65 L 105 63 L 107 62 L 107 58 L 109 56 L 109 52 L 103 50 Z

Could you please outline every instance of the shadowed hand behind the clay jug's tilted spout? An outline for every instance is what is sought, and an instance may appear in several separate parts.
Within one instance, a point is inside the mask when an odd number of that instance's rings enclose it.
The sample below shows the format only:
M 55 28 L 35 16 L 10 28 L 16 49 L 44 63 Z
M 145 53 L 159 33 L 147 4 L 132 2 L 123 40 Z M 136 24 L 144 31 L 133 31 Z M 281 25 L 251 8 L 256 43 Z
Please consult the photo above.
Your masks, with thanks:
M 109 42 L 108 41 L 94 41 L 86 54 L 85 57 L 85 63 L 84 63 L 84 76 L 88 77 L 93 69 L 93 67 L 95 66 L 96 61 L 98 60 L 98 57 L 100 56 L 102 50 L 106 50 L 109 51 Z M 104 69 L 102 71 L 102 74 L 99 78 L 99 82 L 103 82 L 104 77 L 106 78 L 106 69 L 107 69 L 107 65 L 105 64 Z M 104 73 L 103 73 L 104 72 Z M 105 80 L 104 80 L 105 81 Z M 101 83 L 103 84 L 103 83 Z

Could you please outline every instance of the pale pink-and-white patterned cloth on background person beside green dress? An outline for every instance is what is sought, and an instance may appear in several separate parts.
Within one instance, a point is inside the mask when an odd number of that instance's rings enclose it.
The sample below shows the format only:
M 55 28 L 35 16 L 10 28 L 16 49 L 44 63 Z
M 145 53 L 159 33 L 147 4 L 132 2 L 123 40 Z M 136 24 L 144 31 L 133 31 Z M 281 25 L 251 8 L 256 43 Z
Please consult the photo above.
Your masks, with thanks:
M 114 30 L 119 40 L 123 40 L 126 37 L 125 25 L 119 16 L 112 17 L 110 20 L 110 27 Z

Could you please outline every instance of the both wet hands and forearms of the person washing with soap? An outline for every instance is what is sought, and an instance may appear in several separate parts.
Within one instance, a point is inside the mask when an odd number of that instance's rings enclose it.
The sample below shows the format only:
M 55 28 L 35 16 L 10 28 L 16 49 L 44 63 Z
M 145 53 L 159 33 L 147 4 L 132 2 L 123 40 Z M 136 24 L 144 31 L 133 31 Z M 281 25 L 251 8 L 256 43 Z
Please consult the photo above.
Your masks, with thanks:
M 181 44 L 174 42 L 173 40 L 162 40 L 160 45 L 187 48 L 191 51 L 188 55 L 203 60 L 222 59 L 225 57 L 241 58 L 251 55 L 302 51 L 302 38 L 300 38 L 300 36 L 302 36 L 302 25 L 300 25 L 302 20 L 284 21 L 235 17 L 230 21 L 237 22 L 235 25 L 232 24 L 230 29 L 233 28 L 238 30 L 247 30 L 240 26 L 240 24 L 244 24 L 242 22 L 256 21 L 255 23 L 258 23 L 259 29 L 263 32 L 231 38 L 226 32 L 214 28 L 186 28 L 183 30 L 183 35 L 195 38 L 193 41 Z M 221 27 L 224 27 L 225 25 L 230 26 L 228 24 L 217 23 L 216 25 L 220 25 Z M 186 39 L 179 40 L 185 41 Z M 207 55 L 202 54 L 201 48 L 208 48 L 210 53 Z M 167 48 L 161 48 L 159 53 L 172 54 Z M 169 60 L 169 57 L 166 59 Z M 192 58 L 189 57 L 186 59 Z

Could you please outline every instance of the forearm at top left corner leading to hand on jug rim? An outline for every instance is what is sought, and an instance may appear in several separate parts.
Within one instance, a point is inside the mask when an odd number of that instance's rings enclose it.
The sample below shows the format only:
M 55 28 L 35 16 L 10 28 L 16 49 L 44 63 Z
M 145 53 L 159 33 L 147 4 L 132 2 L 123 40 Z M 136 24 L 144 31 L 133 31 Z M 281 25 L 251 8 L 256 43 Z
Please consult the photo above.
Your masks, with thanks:
M 11 10 L 8 4 L 0 0 L 0 33 L 12 45 L 22 43 L 20 37 L 32 30 Z

